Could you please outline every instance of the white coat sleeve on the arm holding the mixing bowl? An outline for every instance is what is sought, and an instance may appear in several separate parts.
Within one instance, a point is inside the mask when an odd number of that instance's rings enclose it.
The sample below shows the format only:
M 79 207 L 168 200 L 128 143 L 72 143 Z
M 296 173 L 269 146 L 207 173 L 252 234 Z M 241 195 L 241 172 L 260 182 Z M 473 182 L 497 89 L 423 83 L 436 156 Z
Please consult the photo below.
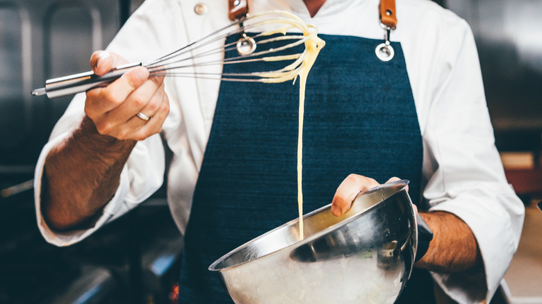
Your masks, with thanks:
M 423 195 L 430 212 L 450 212 L 470 227 L 484 269 L 432 275 L 459 303 L 489 303 L 518 248 L 525 208 L 495 148 L 473 34 L 466 22 L 458 28 L 432 77 L 441 83 L 424 130 Z

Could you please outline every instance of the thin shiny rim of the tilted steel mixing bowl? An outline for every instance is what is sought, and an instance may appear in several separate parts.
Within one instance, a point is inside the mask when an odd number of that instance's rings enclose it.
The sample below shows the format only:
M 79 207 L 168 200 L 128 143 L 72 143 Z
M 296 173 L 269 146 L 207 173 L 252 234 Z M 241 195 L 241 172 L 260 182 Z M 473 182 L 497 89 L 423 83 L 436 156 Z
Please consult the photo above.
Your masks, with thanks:
M 276 228 L 273 228 L 272 230 L 269 230 L 268 232 L 263 233 L 262 235 L 259 235 L 258 237 L 255 237 L 254 239 L 251 239 L 248 242 L 245 242 L 245 244 L 242 244 L 242 245 L 238 246 L 237 248 L 229 251 L 229 253 L 226 253 L 225 255 L 222 255 L 222 257 L 215 260 L 215 262 L 213 262 L 213 264 L 211 264 L 208 267 L 208 270 L 210 270 L 210 271 L 219 271 L 219 272 L 226 271 L 227 269 L 232 269 L 233 267 L 239 267 L 239 266 L 241 266 L 243 264 L 246 264 L 248 262 L 252 262 L 254 260 L 261 259 L 263 257 L 267 257 L 267 256 L 272 255 L 274 253 L 277 253 L 279 251 L 284 251 L 287 248 L 290 248 L 290 247 L 293 247 L 293 246 L 302 246 L 302 245 L 304 245 L 306 243 L 312 242 L 314 239 L 318 239 L 319 237 L 322 237 L 322 235 L 326 235 L 331 230 L 336 230 L 336 229 L 338 229 L 338 228 L 340 228 L 342 226 L 345 226 L 348 223 L 350 223 L 351 221 L 354 221 L 355 219 L 357 219 L 358 217 L 361 217 L 362 214 L 365 214 L 366 212 L 369 212 L 370 210 L 377 208 L 378 205 L 381 205 L 381 203 L 383 203 L 384 201 L 387 201 L 388 199 L 391 199 L 393 196 L 396 196 L 400 192 L 406 191 L 406 187 L 407 187 L 407 185 L 409 185 L 409 180 L 405 180 L 405 179 L 403 179 L 403 180 L 395 180 L 393 182 L 384 183 L 384 184 L 378 185 L 376 187 L 372 187 L 372 188 L 368 189 L 366 192 L 363 192 L 363 193 L 360 192 L 360 194 L 358 194 L 358 195 L 365 195 L 365 194 L 370 194 L 372 192 L 378 191 L 379 189 L 383 189 L 383 188 L 387 188 L 387 187 L 393 187 L 393 186 L 396 186 L 396 185 L 402 185 L 402 187 L 400 189 L 397 189 L 397 191 L 394 192 L 393 194 L 391 194 L 390 196 L 386 197 L 386 199 L 383 199 L 383 200 L 375 203 L 374 205 L 372 205 L 369 208 L 359 212 L 358 214 L 352 215 L 352 217 L 349 217 L 347 219 L 344 219 L 343 221 L 340 221 L 340 222 L 335 223 L 335 224 L 333 224 L 333 225 L 331 225 L 331 226 L 329 226 L 329 227 L 327 227 L 325 229 L 322 229 L 322 230 L 318 231 L 318 233 L 314 233 L 310 237 L 305 237 L 304 239 L 300 239 L 300 240 L 298 240 L 296 242 L 293 242 L 293 244 L 281 247 L 281 248 L 279 248 L 279 249 L 277 249 L 275 251 L 271 251 L 270 253 L 265 253 L 265 255 L 261 255 L 261 256 L 256 257 L 256 258 L 254 258 L 252 260 L 247 260 L 247 261 L 244 261 L 244 262 L 240 262 L 238 264 L 231 265 L 231 266 L 228 266 L 228 267 L 217 268 L 218 264 L 220 264 L 221 262 L 226 260 L 228 257 L 233 255 L 234 253 L 237 253 L 242 248 L 245 248 L 249 244 L 251 244 L 253 242 L 256 242 L 258 239 L 262 239 L 263 237 L 265 237 L 267 235 L 270 235 L 270 234 L 274 233 L 275 231 L 277 231 L 277 230 L 279 230 L 281 228 L 284 228 L 285 226 L 289 226 L 292 223 L 295 223 L 296 221 L 299 221 L 299 217 L 296 217 L 295 219 L 292 219 L 292 220 L 290 220 L 290 221 L 288 221 L 286 223 L 283 223 L 281 226 L 277 226 Z M 357 198 L 357 196 L 356 196 L 356 198 Z M 322 207 L 320 207 L 320 208 L 318 208 L 316 210 L 313 210 L 313 211 L 311 211 L 311 212 L 309 212 L 307 214 L 304 214 L 303 219 L 305 219 L 306 217 L 311 217 L 313 214 L 322 212 L 323 210 L 329 209 L 329 208 L 331 208 L 331 203 L 329 203 L 329 204 L 327 204 L 325 206 L 322 206 Z

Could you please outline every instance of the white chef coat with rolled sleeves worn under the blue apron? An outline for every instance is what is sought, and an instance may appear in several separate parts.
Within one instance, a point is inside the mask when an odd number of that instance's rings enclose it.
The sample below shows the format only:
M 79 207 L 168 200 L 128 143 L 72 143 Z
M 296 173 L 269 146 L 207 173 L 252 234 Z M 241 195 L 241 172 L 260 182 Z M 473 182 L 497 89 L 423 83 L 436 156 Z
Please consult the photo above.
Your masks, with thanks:
M 195 10 L 197 4 L 207 8 L 202 15 Z M 302 0 L 249 1 L 252 14 L 288 10 L 317 25 L 320 33 L 383 39 L 378 4 L 378 0 L 327 0 L 311 18 Z M 398 24 L 391 40 L 402 44 L 424 144 L 422 207 L 451 212 L 465 221 L 484 260 L 485 273 L 432 276 L 459 303 L 488 302 L 518 246 L 524 207 L 504 177 L 494 146 L 473 34 L 463 19 L 431 1 L 397 0 L 396 6 Z M 226 0 L 147 0 L 108 50 L 145 62 L 229 22 Z M 220 59 L 222 55 L 217 56 Z M 219 81 L 192 78 L 165 80 L 170 115 L 163 124 L 163 138 L 174 153 L 168 164 L 167 198 L 181 232 L 190 214 L 219 85 Z M 163 183 L 163 144 L 161 136 L 154 135 L 136 144 L 122 171 L 120 186 L 95 226 L 68 233 L 57 233 L 47 226 L 40 214 L 39 196 L 44 159 L 52 146 L 79 125 L 84 100 L 85 95 L 79 94 L 69 105 L 44 146 L 35 171 L 38 225 L 45 239 L 58 246 L 79 242 L 145 201 Z

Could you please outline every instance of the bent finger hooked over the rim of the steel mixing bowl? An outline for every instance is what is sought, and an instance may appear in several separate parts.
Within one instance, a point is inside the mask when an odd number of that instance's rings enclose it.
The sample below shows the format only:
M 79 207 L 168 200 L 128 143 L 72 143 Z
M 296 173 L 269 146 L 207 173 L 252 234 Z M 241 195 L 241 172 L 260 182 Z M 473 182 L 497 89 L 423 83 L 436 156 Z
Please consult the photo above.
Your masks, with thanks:
M 335 216 L 345 214 L 359 193 L 380 185 L 376 180 L 357 174 L 350 174 L 337 188 L 331 203 L 331 213 Z

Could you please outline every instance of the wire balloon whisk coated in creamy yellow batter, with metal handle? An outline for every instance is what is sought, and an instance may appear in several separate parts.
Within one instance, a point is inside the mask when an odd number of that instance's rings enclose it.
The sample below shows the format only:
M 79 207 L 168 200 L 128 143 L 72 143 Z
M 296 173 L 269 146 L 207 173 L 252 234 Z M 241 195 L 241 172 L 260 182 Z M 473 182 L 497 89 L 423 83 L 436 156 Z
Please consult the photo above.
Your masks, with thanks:
M 318 38 L 317 32 L 316 26 L 305 24 L 302 19 L 290 12 L 281 10 L 263 12 L 233 22 L 156 60 L 122 65 L 104 76 L 97 76 L 88 71 L 49 79 L 45 87 L 33 90 L 31 94 L 33 96 L 47 94 L 52 99 L 85 92 L 95 87 L 104 87 L 137 66 L 147 67 L 151 76 L 280 83 L 295 79 L 304 66 L 303 62 L 313 57 L 311 49 L 323 47 L 324 42 Z M 228 42 L 236 35 L 239 36 L 238 40 Z M 228 37 L 230 39 L 227 39 Z M 227 42 L 223 42 L 224 40 Z M 229 51 L 236 51 L 236 56 L 230 58 L 221 56 Z M 264 62 L 265 69 L 258 71 L 248 69 L 247 72 L 230 74 L 196 69 L 235 64 L 251 67 L 252 62 Z

